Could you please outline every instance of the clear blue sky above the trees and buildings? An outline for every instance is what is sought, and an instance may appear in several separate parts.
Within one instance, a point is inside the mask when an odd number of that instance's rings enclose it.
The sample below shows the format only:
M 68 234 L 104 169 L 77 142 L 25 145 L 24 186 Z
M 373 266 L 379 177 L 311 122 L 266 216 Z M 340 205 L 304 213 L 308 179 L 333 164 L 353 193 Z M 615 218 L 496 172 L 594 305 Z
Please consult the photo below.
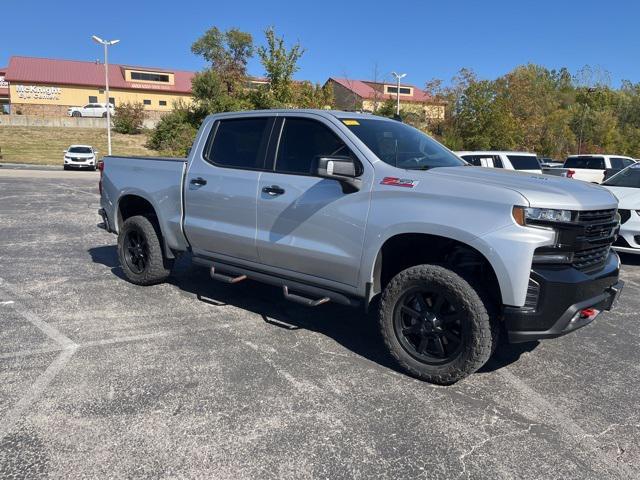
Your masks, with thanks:
M 0 65 L 11 55 L 102 58 L 90 40 L 97 34 L 122 40 L 111 50 L 115 63 L 198 70 L 204 63 L 190 46 L 207 28 L 238 27 L 261 43 L 264 28 L 273 25 L 288 43 L 306 49 L 298 79 L 371 78 L 377 65 L 381 79 L 397 70 L 422 86 L 434 77 L 449 80 L 461 67 L 495 78 L 534 62 L 572 72 L 598 66 L 617 85 L 640 82 L 639 15 L 640 2 L 633 0 L 7 0 Z M 263 73 L 257 59 L 249 71 Z

